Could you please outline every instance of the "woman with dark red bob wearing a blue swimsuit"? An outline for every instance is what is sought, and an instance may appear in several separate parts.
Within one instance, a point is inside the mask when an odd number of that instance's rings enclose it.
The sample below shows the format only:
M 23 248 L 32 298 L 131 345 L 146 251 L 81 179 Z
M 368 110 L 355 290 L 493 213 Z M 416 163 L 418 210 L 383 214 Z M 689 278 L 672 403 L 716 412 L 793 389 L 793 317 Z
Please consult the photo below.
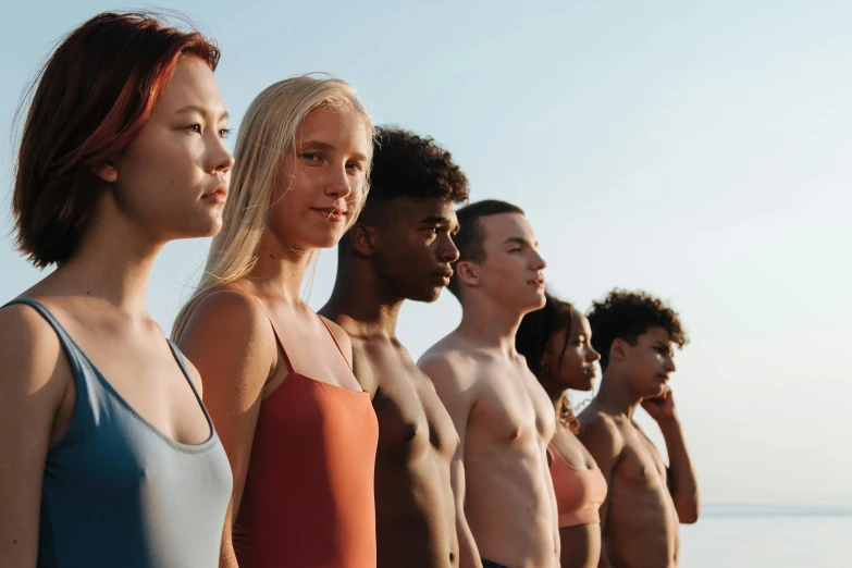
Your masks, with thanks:
M 12 210 L 20 250 L 57 268 L 0 310 L 4 566 L 218 563 L 227 458 L 145 304 L 163 245 L 222 224 L 218 61 L 197 32 L 103 13 L 40 73 Z

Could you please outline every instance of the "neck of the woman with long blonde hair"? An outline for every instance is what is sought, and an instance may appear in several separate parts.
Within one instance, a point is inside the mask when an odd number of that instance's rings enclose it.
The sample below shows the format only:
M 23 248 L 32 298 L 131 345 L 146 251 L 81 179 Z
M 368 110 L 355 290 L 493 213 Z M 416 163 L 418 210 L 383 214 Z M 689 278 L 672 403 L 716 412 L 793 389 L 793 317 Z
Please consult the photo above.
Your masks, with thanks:
M 260 239 L 258 260 L 247 280 L 271 295 L 287 301 L 301 301 L 301 283 L 316 249 L 295 250 L 267 230 Z

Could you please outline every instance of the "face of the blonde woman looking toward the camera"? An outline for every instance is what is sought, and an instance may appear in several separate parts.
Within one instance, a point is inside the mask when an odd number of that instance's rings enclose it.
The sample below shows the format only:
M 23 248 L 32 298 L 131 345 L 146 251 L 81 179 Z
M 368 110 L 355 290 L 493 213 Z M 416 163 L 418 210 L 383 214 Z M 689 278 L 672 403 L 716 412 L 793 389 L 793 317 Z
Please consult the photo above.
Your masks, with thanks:
M 286 152 L 269 226 L 295 249 L 330 248 L 355 221 L 372 149 L 369 123 L 354 108 L 318 107 Z

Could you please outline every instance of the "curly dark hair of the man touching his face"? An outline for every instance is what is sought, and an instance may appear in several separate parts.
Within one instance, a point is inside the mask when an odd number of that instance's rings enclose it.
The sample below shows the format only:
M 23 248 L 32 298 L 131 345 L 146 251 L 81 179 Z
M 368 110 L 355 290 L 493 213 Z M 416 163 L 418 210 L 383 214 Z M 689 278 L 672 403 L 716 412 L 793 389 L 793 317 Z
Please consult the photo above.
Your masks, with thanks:
M 602 301 L 592 302 L 588 313 L 592 347 L 601 354 L 601 369 L 609 363 L 609 348 L 616 339 L 635 345 L 651 328 L 663 328 L 678 347 L 688 342 L 678 312 L 645 292 L 615 288 Z

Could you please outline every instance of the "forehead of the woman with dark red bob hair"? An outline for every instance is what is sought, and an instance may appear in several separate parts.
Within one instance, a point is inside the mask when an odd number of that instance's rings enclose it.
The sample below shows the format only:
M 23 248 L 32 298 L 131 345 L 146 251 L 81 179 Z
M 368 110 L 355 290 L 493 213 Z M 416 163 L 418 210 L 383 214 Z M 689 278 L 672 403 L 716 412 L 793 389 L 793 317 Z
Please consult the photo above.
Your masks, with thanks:
M 166 112 L 187 106 L 203 108 L 217 115 L 224 111 L 212 70 L 195 55 L 177 60 L 174 74 L 157 101 L 158 109 Z

